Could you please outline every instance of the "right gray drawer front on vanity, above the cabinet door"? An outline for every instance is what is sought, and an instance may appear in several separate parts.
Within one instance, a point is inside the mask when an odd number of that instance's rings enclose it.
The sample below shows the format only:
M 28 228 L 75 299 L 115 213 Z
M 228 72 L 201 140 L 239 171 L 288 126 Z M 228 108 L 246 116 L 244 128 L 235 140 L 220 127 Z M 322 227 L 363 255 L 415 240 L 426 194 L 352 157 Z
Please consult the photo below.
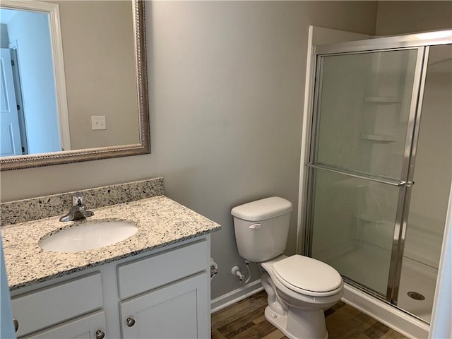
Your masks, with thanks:
M 206 270 L 207 266 L 206 239 L 125 263 L 117 267 L 119 297 L 138 295 Z

